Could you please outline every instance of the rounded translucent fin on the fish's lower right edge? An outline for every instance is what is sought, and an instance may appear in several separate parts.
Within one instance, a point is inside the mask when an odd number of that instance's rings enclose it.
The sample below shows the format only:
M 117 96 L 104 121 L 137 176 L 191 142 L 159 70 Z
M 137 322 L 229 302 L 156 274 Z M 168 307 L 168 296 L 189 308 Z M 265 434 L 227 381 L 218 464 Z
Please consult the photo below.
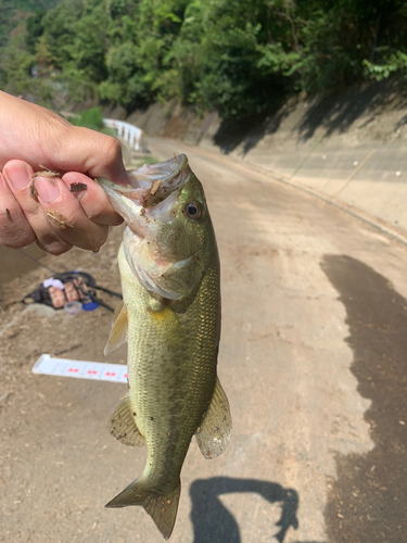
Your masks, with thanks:
M 231 432 L 232 418 L 229 402 L 217 378 L 209 407 L 195 433 L 199 447 L 205 458 L 219 456 L 228 446 Z

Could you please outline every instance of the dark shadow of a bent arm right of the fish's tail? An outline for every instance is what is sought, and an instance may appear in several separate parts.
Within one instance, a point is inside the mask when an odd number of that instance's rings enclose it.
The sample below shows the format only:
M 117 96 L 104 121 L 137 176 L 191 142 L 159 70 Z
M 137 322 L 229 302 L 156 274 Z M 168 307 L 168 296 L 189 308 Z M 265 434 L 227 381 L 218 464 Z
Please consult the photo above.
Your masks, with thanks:
M 281 502 L 281 518 L 276 523 L 280 530 L 270 534 L 282 543 L 290 527 L 296 529 L 298 520 L 298 494 L 293 489 L 284 489 L 278 483 L 257 479 L 230 479 L 214 477 L 198 479 L 191 484 L 191 520 L 193 523 L 193 543 L 241 543 L 239 526 L 233 515 L 218 498 L 221 494 L 254 492 L 270 503 Z M 250 507 L 250 496 L 247 496 Z M 309 542 L 311 543 L 311 542 Z

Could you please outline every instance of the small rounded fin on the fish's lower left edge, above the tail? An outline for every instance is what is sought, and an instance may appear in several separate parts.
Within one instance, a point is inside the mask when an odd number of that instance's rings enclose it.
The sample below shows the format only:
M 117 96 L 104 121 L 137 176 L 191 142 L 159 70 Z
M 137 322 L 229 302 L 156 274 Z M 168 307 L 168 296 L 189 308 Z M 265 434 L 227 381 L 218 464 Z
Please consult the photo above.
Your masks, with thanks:
M 128 394 L 122 399 L 109 419 L 107 430 L 124 445 L 142 446 L 145 443 L 144 437 L 137 428 L 136 413 L 132 411 Z

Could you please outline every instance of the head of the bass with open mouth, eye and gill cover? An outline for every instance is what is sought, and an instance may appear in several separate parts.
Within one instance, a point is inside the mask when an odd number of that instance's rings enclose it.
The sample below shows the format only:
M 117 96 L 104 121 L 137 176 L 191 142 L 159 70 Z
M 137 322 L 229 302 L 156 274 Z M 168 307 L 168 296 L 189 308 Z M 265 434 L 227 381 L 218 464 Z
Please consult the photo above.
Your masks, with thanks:
M 201 281 L 216 251 L 203 187 L 183 154 L 129 177 L 131 187 L 99 179 L 126 222 L 127 263 L 149 291 L 180 300 Z

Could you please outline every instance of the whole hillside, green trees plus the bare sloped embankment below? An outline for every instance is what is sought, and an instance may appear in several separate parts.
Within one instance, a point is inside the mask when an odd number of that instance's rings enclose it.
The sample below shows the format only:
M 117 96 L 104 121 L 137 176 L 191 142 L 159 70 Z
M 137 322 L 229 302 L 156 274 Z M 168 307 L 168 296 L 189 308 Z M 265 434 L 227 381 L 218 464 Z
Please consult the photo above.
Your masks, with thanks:
M 56 111 L 100 103 L 407 228 L 404 1 L 41 5 L 11 31 L 0 88 Z

